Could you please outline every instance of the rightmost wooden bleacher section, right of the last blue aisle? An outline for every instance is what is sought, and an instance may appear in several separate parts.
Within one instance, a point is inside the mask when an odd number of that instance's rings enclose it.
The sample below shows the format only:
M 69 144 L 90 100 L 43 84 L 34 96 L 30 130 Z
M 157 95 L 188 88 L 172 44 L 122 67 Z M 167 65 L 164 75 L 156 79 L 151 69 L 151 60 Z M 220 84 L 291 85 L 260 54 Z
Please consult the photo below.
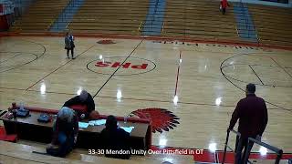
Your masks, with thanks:
M 292 46 L 292 9 L 267 5 L 248 5 L 260 43 Z

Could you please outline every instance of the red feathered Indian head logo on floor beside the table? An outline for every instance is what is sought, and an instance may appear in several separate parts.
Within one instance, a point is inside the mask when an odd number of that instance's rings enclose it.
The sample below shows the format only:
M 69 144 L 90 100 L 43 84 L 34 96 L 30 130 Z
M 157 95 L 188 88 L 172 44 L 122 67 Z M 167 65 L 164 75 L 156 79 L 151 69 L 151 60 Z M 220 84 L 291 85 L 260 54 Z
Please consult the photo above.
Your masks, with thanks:
M 153 133 L 156 131 L 162 133 L 162 130 L 169 131 L 170 128 L 175 128 L 176 124 L 180 124 L 177 121 L 180 118 L 175 116 L 171 111 L 164 108 L 137 109 L 131 113 L 139 118 L 150 118 L 152 122 Z

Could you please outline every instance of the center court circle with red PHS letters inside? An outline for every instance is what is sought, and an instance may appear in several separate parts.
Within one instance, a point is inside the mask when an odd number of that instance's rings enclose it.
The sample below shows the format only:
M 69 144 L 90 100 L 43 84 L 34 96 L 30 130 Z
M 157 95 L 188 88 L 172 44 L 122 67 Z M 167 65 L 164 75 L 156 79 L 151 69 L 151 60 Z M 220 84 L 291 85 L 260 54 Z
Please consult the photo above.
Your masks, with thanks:
M 131 76 L 148 73 L 156 67 L 156 64 L 149 59 L 135 56 L 127 57 L 110 56 L 92 60 L 88 63 L 87 68 L 91 72 L 102 75 L 111 75 L 118 69 L 115 76 Z

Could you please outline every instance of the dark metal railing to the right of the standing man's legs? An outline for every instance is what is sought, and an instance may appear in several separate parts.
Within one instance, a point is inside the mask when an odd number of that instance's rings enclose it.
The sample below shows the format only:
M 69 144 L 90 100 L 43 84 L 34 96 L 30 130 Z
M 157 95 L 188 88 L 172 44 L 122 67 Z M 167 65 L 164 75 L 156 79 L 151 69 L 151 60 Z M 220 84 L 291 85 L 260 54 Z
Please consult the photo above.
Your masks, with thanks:
M 265 147 L 266 149 L 270 149 L 272 151 L 274 151 L 276 153 L 276 161 L 275 161 L 275 164 L 278 164 L 280 162 L 280 159 L 282 158 L 282 155 L 283 155 L 283 150 L 282 149 L 277 149 L 273 146 L 270 146 L 264 142 L 261 142 L 255 138 L 248 138 L 248 147 L 247 149 L 245 150 L 245 160 L 244 160 L 244 163 L 247 163 L 248 161 L 248 157 L 249 157 L 249 154 L 250 154 L 250 151 L 253 147 L 253 144 L 256 143 L 257 145 L 260 145 L 260 146 L 263 146 Z

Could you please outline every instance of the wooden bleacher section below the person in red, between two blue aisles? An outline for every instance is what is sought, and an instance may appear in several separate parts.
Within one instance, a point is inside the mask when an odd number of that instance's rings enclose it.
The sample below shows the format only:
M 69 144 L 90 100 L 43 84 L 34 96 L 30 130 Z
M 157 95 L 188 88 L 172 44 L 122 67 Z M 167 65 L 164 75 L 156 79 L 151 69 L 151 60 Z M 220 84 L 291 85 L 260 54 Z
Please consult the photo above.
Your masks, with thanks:
M 162 35 L 240 40 L 233 7 L 228 7 L 226 14 L 222 15 L 219 2 L 204 0 L 167 1 Z

